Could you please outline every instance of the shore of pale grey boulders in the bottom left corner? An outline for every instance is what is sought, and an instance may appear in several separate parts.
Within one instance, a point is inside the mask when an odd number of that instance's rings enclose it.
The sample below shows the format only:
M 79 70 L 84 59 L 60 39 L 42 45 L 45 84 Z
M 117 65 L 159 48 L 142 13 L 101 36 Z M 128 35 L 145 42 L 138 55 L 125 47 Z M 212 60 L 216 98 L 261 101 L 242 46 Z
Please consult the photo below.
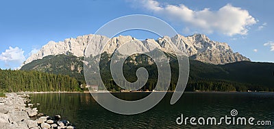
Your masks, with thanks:
M 38 113 L 37 108 L 30 108 L 33 104 L 27 104 L 27 102 L 30 102 L 29 95 L 7 93 L 5 96 L 0 97 L 0 128 L 75 128 L 69 121 L 61 120 L 60 115 L 49 117 Z

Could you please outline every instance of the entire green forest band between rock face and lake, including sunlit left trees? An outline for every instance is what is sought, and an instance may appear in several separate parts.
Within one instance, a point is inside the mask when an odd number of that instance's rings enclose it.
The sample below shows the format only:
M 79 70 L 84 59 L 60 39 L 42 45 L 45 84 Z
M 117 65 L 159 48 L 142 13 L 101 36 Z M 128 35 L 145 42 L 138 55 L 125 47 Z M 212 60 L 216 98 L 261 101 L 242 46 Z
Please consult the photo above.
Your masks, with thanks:
M 108 91 L 121 91 L 110 73 L 110 55 L 101 56 L 101 75 Z M 34 60 L 22 67 L 21 71 L 1 70 L 0 86 L 2 91 L 81 91 L 79 85 L 85 84 L 83 58 L 72 55 L 47 56 Z M 123 73 L 129 82 L 137 80 L 136 71 L 145 67 L 149 80 L 142 91 L 153 91 L 158 82 L 155 64 L 143 60 L 146 56 L 136 56 L 123 65 Z M 176 60 L 170 62 L 172 77 L 169 91 L 174 91 L 178 67 Z M 50 66 L 50 67 L 49 67 Z M 134 73 L 134 74 L 132 74 Z M 72 78 L 70 78 L 72 77 Z M 211 65 L 190 60 L 190 75 L 185 91 L 274 91 L 274 64 L 264 62 L 234 62 L 226 65 Z M 100 88 L 100 87 L 99 87 Z M 86 89 L 88 90 L 88 89 Z

